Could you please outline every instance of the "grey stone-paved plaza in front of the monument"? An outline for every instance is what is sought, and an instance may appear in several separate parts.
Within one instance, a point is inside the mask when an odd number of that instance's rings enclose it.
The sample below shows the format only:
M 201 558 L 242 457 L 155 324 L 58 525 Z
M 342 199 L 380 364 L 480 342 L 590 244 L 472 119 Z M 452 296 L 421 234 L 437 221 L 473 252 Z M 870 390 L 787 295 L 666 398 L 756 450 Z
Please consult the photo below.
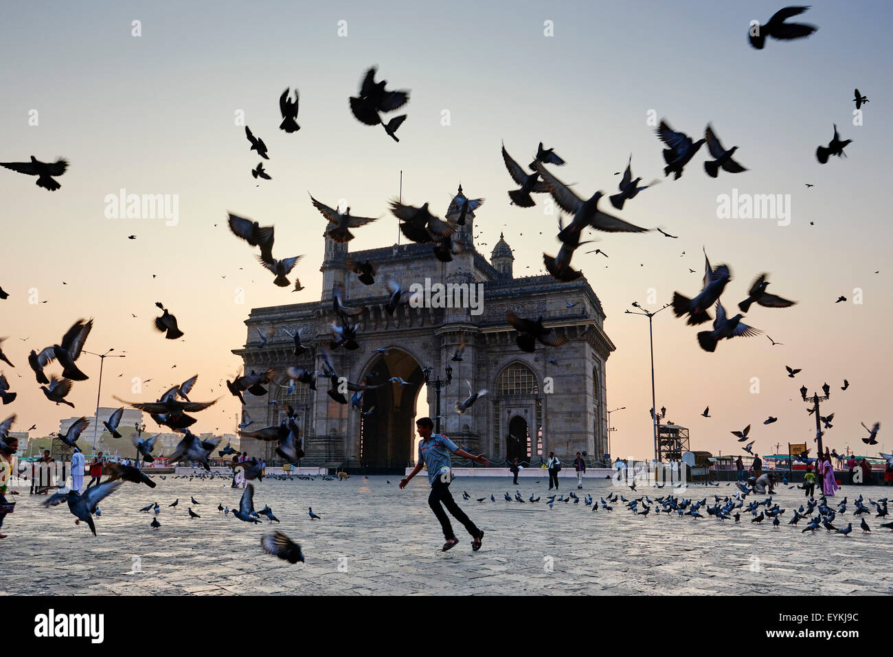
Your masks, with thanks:
M 405 491 L 398 477 L 352 476 L 346 482 L 265 479 L 256 488 L 255 509 L 269 504 L 281 524 L 273 523 L 304 549 L 306 562 L 290 565 L 263 553 L 262 525 L 224 517 L 217 504 L 238 506 L 241 489 L 213 481 L 156 478 L 158 487 L 125 484 L 100 503 L 94 538 L 84 523 L 74 525 L 67 505 L 43 509 L 45 496 L 26 488 L 13 515 L 7 516 L 0 545 L 2 594 L 32 595 L 748 595 L 822 593 L 880 595 L 893 593 L 893 532 L 879 528 L 887 519 L 868 518 L 870 535 L 855 519 L 850 536 L 811 535 L 789 526 L 802 492 L 781 487 L 774 499 L 788 511 L 780 528 L 742 516 L 741 523 L 712 517 L 693 520 L 656 514 L 634 516 L 623 503 L 613 511 L 591 511 L 582 501 L 537 504 L 505 502 L 514 495 L 511 478 L 457 478 L 451 490 L 486 536 L 479 553 L 471 537 L 454 523 L 460 544 L 441 553 L 443 536 L 427 503 L 428 481 L 422 472 Z M 387 479 L 390 479 L 388 485 Z M 547 495 L 547 478 L 522 480 L 522 497 Z M 608 479 L 588 480 L 583 490 L 596 500 L 618 492 L 655 496 L 668 488 L 616 488 Z M 574 482 L 575 483 L 575 482 Z M 472 500 L 463 502 L 467 490 Z M 834 524 L 854 520 L 853 500 L 860 494 L 889 496 L 889 487 L 843 487 L 847 513 Z M 734 484 L 691 486 L 683 496 L 734 495 Z M 497 502 L 489 500 L 495 495 Z M 631 494 L 631 495 L 630 495 Z M 201 503 L 190 519 L 194 495 Z M 475 497 L 487 497 L 477 503 Z M 179 497 L 176 509 L 168 504 Z M 762 500 L 749 495 L 747 500 Z M 149 528 L 151 514 L 138 509 L 157 501 L 162 528 Z M 866 502 L 867 504 L 867 502 Z M 307 507 L 321 515 L 310 520 Z M 836 504 L 832 505 L 836 508 Z M 548 557 L 553 570 L 548 571 Z M 138 558 L 140 572 L 132 572 Z M 346 558 L 346 559 L 345 559 Z M 340 564 L 340 565 L 339 565 Z M 821 580 L 822 584 L 817 584 Z

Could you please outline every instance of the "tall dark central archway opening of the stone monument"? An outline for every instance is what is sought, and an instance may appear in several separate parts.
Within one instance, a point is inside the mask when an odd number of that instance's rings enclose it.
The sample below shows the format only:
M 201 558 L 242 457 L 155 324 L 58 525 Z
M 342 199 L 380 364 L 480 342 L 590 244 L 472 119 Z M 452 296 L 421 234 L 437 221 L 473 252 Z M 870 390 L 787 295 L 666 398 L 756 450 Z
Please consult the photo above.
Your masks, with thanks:
M 363 413 L 369 414 L 360 417 L 360 462 L 370 472 L 402 473 L 414 461 L 415 402 L 424 385 L 421 366 L 411 354 L 390 348 L 364 374 L 372 372 L 369 383 L 385 383 L 363 393 Z M 402 378 L 406 385 L 389 383 L 393 377 Z

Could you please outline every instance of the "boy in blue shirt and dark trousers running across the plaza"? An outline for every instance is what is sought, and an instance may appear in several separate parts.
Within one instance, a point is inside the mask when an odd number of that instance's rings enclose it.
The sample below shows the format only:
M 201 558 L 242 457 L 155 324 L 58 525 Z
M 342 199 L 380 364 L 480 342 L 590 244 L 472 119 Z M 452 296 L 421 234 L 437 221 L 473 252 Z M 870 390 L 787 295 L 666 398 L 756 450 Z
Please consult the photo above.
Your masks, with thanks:
M 400 480 L 400 489 L 403 490 L 406 484 L 415 477 L 422 467 L 428 467 L 428 482 L 431 485 L 431 492 L 428 496 L 428 504 L 431 511 L 440 521 L 440 527 L 443 529 L 444 538 L 447 542 L 443 545 L 443 551 L 452 549 L 459 543 L 459 539 L 453 533 L 453 527 L 450 525 L 447 513 L 441 507 L 441 503 L 447 507 L 452 516 L 461 522 L 468 533 L 472 535 L 472 550 L 477 552 L 480 550 L 481 541 L 484 538 L 484 532 L 475 526 L 471 519 L 465 515 L 464 511 L 455 503 L 453 495 L 450 495 L 449 485 L 453 480 L 453 470 L 451 468 L 451 455 L 455 454 L 461 459 L 470 459 L 480 465 L 488 466 L 490 462 L 484 458 L 483 454 L 470 454 L 461 449 L 452 440 L 443 434 L 431 434 L 434 430 L 434 421 L 430 418 L 419 418 L 415 422 L 415 430 L 418 432 L 421 441 L 419 443 L 419 459 L 415 464 L 415 468 L 405 478 Z

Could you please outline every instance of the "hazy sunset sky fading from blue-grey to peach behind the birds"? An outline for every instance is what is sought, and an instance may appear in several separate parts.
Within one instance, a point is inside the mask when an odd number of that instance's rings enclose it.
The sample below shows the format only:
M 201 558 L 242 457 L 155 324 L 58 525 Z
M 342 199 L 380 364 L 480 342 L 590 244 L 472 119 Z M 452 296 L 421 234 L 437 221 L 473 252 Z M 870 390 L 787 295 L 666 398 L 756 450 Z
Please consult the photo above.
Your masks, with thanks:
M 893 227 L 884 198 L 893 153 L 893 7 L 814 2 L 794 19 L 817 25 L 812 37 L 770 39 L 756 51 L 747 42 L 749 22 L 767 21 L 782 5 L 8 5 L 0 26 L 0 161 L 33 154 L 71 164 L 54 193 L 0 170 L 0 287 L 10 294 L 0 301 L 0 336 L 9 337 L 3 349 L 16 366 L 2 371 L 19 393 L 0 409 L 0 420 L 16 412 L 13 430 L 36 423 L 32 436 L 45 436 L 61 418 L 92 417 L 98 358 L 84 354 L 79 361 L 90 379 L 74 385 L 77 412 L 46 401 L 27 362 L 30 349 L 58 342 L 74 320 L 92 317 L 86 348 L 126 353 L 106 361 L 102 405 L 115 405 L 112 395 L 154 400 L 197 372 L 190 397 L 221 402 L 197 414 L 196 433 L 231 433 L 238 400 L 221 381 L 241 364 L 230 350 L 245 344 L 248 312 L 321 294 L 325 221 L 308 192 L 381 217 L 355 232 L 351 248 L 359 250 L 395 243 L 387 203 L 400 170 L 404 202 L 427 201 L 440 214 L 461 180 L 467 195 L 487 199 L 477 212 L 479 242 L 487 244 L 480 252 L 489 256 L 504 231 L 515 249 L 515 275 L 530 275 L 542 268 L 544 249 L 558 248 L 555 217 L 544 214 L 544 195 L 536 208 L 509 205 L 506 191 L 514 187 L 499 149 L 505 141 L 526 164 L 543 141 L 568 162 L 553 173 L 586 197 L 616 192 L 620 177 L 613 172 L 631 153 L 634 176 L 661 183 L 618 216 L 679 236 L 601 233 L 592 248 L 609 258 L 585 255 L 586 248 L 574 257 L 617 345 L 607 361 L 608 409 L 626 410 L 612 417 L 614 455 L 650 456 L 653 445 L 648 322 L 623 311 L 632 301 L 656 309 L 675 290 L 697 294 L 702 247 L 714 265 L 730 265 L 722 297 L 730 314 L 761 272 L 770 273 L 769 291 L 799 303 L 747 313 L 746 323 L 783 345 L 772 346 L 765 335 L 741 337 L 722 341 L 715 353 L 697 345 L 697 330 L 707 325 L 686 326 L 672 310 L 655 318 L 657 406 L 668 409 L 666 420 L 691 429 L 692 449 L 740 453 L 730 430 L 747 424 L 761 454 L 776 444 L 814 445 L 814 420 L 797 388 L 813 391 L 827 381 L 832 393 L 822 412 L 834 412 L 835 420 L 825 445 L 865 453 L 859 423 L 880 421 L 877 447 L 889 452 Z M 131 36 L 137 20 L 140 37 Z M 338 21 L 346 21 L 346 37 L 338 36 Z M 553 21 L 553 37 L 544 36 L 544 21 Z M 349 111 L 347 98 L 372 64 L 388 88 L 412 92 L 399 144 Z M 285 87 L 301 95 L 301 130 L 292 135 L 278 128 Z M 861 126 L 853 125 L 854 87 L 871 101 Z M 32 110 L 37 126 L 29 125 Z M 449 125 L 442 125 L 444 110 Z M 250 171 L 260 158 L 248 151 L 238 111 L 269 148 L 264 165 L 272 180 L 259 187 Z M 748 170 L 710 179 L 703 148 L 680 180 L 664 179 L 663 145 L 649 112 L 695 139 L 712 122 L 724 146 L 739 146 L 736 159 Z M 828 144 L 834 123 L 853 142 L 847 158 L 821 165 L 815 148 Z M 121 188 L 179 195 L 179 223 L 106 218 L 104 199 Z M 733 188 L 790 195 L 790 225 L 718 219 L 717 196 Z M 606 199 L 600 207 L 613 212 Z M 272 285 L 252 249 L 226 228 L 227 211 L 274 224 L 277 257 L 305 254 L 294 272 L 304 291 Z M 127 239 L 131 234 L 137 239 Z M 246 291 L 244 304 L 236 303 L 237 287 Z M 31 288 L 47 303 L 29 304 Z M 649 288 L 654 304 L 647 303 Z M 863 304 L 852 303 L 854 288 Z M 839 295 L 847 303 L 835 304 Z M 151 328 L 155 302 L 176 314 L 185 342 Z M 803 371 L 791 379 L 785 365 Z M 47 372 L 57 373 L 58 365 Z M 153 379 L 143 395 L 131 393 L 134 377 Z M 755 377 L 759 394 L 749 392 Z M 841 392 L 844 378 L 850 387 Z M 699 414 L 708 405 L 713 417 L 704 419 Z M 764 427 L 769 415 L 779 421 Z

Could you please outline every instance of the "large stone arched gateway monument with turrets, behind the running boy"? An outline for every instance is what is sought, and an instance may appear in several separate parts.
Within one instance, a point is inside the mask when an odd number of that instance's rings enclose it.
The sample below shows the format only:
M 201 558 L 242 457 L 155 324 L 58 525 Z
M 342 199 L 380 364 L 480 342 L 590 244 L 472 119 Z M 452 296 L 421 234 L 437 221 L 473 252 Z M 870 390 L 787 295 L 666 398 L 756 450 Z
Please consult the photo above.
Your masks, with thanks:
M 461 186 L 457 198 L 463 198 Z M 455 200 L 446 216 L 457 219 Z M 440 389 L 440 431 L 456 445 L 484 453 L 495 464 L 515 456 L 519 462 L 538 464 L 550 451 L 565 465 L 577 452 L 585 453 L 590 462 L 602 459 L 607 451 L 605 361 L 615 349 L 605 335 L 602 304 L 583 277 L 570 283 L 559 283 L 548 275 L 514 277 L 512 249 L 501 235 L 488 262 L 474 246 L 473 220 L 469 212 L 455 234 L 463 252 L 454 255 L 452 262 L 439 262 L 431 245 L 412 243 L 348 253 L 346 244 L 326 237 L 320 301 L 253 309 L 245 322 L 246 345 L 233 353 L 243 359 L 246 373 L 270 368 L 279 372 L 292 365 L 321 372 L 325 369 L 322 350 L 329 349 L 330 324 L 336 320 L 332 290 L 342 287 L 346 305 L 363 306 L 363 314 L 355 319 L 360 347 L 329 350 L 331 361 L 339 376 L 353 382 L 384 382 L 384 386 L 364 393 L 361 412 L 327 395 L 328 378 L 317 379 L 316 392 L 296 382 L 291 394 L 288 387 L 271 382 L 265 396 L 244 395 L 244 408 L 255 427 L 263 426 L 264 420 L 267 425 L 279 424 L 288 403 L 301 428 L 305 464 L 402 472 L 416 460 L 414 420 L 416 400 L 425 386 L 422 370 L 430 367 L 433 381 L 446 379 L 450 366 L 452 382 Z M 375 283 L 363 285 L 347 270 L 347 257 L 373 262 L 378 269 Z M 432 284 L 482 283 L 483 312 L 404 304 L 391 316 L 385 309 L 388 278 L 405 289 L 413 283 L 424 285 L 426 278 Z M 515 343 L 517 331 L 505 320 L 506 311 L 531 320 L 544 316 L 547 328 L 567 337 L 567 343 L 561 347 L 537 343 L 535 353 L 523 352 Z M 262 348 L 258 329 L 265 334 L 271 328 L 275 334 Z M 292 339 L 282 329 L 300 330 L 309 351 L 296 357 Z M 463 344 L 462 361 L 453 361 Z M 376 352 L 380 348 L 388 352 Z M 377 373 L 365 378 L 372 372 Z M 400 377 L 408 385 L 388 383 L 391 377 Z M 460 414 L 455 403 L 469 395 L 466 381 L 475 392 L 487 388 L 488 393 Z M 435 386 L 426 389 L 427 414 L 434 418 L 438 414 Z M 346 394 L 348 399 L 350 395 Z M 242 438 L 240 445 L 242 451 L 268 463 L 280 461 L 275 443 Z

